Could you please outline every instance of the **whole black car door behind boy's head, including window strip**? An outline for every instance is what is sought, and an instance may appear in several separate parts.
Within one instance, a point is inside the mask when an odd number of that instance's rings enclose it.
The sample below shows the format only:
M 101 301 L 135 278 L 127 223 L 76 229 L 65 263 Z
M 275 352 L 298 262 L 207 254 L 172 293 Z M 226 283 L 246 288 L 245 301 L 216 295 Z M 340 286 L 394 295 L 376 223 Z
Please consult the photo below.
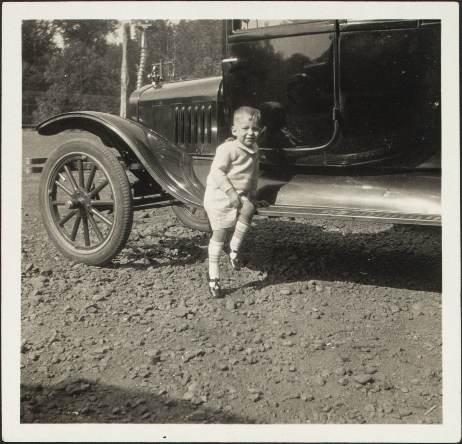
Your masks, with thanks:
M 260 109 L 264 157 L 279 163 L 329 144 L 338 126 L 335 21 L 229 20 L 226 33 L 229 116 Z

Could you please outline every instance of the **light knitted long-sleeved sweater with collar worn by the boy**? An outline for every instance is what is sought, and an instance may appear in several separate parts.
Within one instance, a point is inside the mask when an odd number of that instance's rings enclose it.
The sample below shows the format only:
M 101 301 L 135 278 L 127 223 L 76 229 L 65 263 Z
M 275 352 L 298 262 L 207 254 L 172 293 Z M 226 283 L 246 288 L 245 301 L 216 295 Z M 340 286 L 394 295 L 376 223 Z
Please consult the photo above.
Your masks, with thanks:
M 234 188 L 236 191 L 247 191 L 249 196 L 255 197 L 259 171 L 257 144 L 249 148 L 237 139 L 228 140 L 215 152 L 207 176 L 207 187 L 221 188 L 224 192 Z

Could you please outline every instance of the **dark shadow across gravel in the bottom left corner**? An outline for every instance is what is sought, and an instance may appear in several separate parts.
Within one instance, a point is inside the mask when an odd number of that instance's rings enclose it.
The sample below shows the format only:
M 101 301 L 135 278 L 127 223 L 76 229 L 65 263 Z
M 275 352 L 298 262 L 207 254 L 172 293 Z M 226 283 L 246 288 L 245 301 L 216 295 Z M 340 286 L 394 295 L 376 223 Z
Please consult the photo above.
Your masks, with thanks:
M 28 422 L 254 424 L 255 420 L 147 389 L 123 389 L 73 377 L 50 386 L 21 385 L 21 423 Z

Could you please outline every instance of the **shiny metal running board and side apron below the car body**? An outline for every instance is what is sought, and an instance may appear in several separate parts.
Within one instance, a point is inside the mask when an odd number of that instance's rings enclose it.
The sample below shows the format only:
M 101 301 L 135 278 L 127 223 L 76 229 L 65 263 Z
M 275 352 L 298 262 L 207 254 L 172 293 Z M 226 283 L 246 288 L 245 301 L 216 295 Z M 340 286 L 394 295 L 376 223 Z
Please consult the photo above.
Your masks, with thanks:
M 260 216 L 441 225 L 441 175 L 435 172 L 321 176 L 298 174 L 288 181 L 258 181 Z

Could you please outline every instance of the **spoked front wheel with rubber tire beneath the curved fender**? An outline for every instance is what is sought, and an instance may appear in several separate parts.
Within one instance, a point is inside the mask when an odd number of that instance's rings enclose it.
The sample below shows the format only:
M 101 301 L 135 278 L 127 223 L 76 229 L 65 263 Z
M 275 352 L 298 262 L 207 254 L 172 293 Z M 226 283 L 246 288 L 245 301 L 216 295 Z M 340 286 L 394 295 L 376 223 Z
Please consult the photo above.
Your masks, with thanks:
M 56 148 L 43 167 L 39 203 L 48 235 L 67 259 L 103 265 L 120 253 L 130 236 L 130 184 L 119 160 L 103 145 L 74 139 Z M 65 216 L 70 217 L 63 222 Z

